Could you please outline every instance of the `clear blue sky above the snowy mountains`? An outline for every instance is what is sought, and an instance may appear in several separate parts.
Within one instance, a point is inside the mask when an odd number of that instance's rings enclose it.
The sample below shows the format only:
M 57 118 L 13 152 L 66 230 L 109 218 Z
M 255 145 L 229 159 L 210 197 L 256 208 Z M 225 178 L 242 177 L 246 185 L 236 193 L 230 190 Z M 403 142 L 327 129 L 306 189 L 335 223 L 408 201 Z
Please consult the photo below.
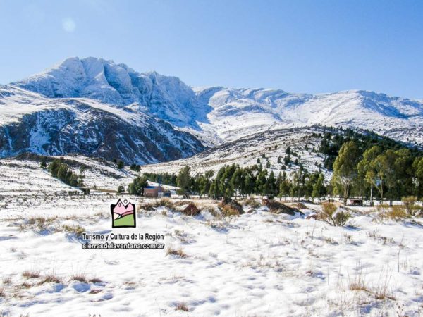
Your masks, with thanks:
M 188 85 L 423 99 L 423 1 L 0 0 L 0 83 L 96 56 Z

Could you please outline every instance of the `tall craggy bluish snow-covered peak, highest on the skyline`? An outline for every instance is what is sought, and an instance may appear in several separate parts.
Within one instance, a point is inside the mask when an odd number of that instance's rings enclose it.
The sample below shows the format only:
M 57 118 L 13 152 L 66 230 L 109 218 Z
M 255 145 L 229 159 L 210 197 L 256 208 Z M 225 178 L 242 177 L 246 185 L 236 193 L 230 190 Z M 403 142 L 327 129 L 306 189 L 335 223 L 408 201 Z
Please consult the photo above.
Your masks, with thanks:
M 197 121 L 207 120 L 207 107 L 200 108 L 195 92 L 178 77 L 137 73 L 102 58 L 68 58 L 13 85 L 49 98 L 86 97 L 117 108 L 136 103 L 183 128 L 198 128 Z

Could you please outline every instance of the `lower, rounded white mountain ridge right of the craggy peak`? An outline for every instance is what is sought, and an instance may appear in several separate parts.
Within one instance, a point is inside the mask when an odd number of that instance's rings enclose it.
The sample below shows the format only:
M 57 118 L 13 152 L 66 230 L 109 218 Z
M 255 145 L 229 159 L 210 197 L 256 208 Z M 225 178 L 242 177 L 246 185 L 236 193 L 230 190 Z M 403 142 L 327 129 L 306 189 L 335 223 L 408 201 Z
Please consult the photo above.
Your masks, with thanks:
M 374 130 L 404 142 L 423 143 L 423 102 L 362 90 L 331 94 L 290 94 L 278 89 L 197 88 L 212 106 L 209 124 L 224 141 L 264 130 L 333 125 Z

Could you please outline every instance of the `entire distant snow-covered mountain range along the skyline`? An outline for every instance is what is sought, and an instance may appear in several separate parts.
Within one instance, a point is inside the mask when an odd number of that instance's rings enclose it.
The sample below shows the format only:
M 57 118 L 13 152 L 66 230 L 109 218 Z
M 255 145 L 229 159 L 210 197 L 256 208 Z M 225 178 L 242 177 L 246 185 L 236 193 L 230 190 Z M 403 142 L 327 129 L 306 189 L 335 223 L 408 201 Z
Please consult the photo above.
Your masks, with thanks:
M 281 89 L 190 88 L 177 77 L 137 73 L 101 58 L 68 58 L 13 85 L 49 98 L 90 98 L 151 116 L 220 144 L 274 128 L 343 125 L 423 142 L 423 102 L 362 90 L 292 94 Z

